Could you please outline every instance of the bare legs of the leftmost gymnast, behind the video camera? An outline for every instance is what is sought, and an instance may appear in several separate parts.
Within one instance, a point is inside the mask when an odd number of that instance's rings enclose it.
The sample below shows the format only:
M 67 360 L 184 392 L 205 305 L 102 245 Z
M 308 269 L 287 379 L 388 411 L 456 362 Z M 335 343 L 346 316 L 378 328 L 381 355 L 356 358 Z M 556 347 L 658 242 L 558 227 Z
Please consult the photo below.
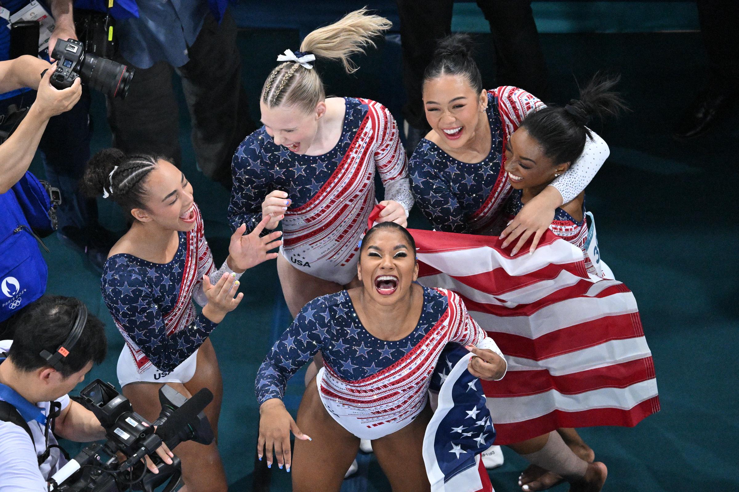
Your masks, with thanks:
M 205 407 L 205 415 L 217 436 L 223 387 L 218 361 L 211 341 L 205 340 L 197 353 L 195 375 L 186 384 L 168 383 L 178 392 L 190 398 L 193 393 L 207 387 L 213 392 L 213 401 Z M 123 396 L 129 399 L 135 412 L 151 421 L 159 416 L 160 383 L 132 383 L 123 387 Z M 183 464 L 183 482 L 188 492 L 225 492 L 228 490 L 225 471 L 218 454 L 216 443 L 208 446 L 187 441 L 174 450 Z

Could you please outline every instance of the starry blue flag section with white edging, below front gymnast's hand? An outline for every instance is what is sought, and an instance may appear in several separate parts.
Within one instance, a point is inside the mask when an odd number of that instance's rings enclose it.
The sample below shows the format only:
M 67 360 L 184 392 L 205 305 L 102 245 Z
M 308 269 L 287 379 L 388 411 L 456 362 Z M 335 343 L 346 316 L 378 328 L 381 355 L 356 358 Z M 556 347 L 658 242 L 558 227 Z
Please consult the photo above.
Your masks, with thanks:
M 432 492 L 492 492 L 481 453 L 495 429 L 480 379 L 467 370 L 472 354 L 449 344 L 439 358 L 429 391 L 435 412 L 423 437 L 423 462 Z

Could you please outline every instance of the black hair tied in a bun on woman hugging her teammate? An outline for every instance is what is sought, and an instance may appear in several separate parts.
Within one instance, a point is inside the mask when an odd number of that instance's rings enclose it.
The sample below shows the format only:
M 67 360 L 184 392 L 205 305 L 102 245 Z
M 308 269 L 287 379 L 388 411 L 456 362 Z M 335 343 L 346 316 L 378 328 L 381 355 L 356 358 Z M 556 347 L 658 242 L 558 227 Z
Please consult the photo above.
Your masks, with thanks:
M 469 34 L 452 34 L 441 39 L 429 66 L 423 72 L 423 82 L 442 75 L 466 77 L 475 94 L 483 91 L 483 77 L 472 58 L 474 41 Z

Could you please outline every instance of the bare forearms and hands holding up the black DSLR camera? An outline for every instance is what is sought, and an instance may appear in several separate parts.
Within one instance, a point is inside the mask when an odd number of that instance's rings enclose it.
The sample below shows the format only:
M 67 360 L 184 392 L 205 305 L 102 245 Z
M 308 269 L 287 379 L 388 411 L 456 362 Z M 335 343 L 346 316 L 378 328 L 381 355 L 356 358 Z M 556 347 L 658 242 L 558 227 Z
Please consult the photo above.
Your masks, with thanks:
M 47 61 L 31 55 L 0 61 L 0 93 L 23 88 L 37 90 L 25 117 L 0 144 L 0 193 L 10 190 L 28 170 L 49 119 L 69 111 L 80 100 L 80 80 L 75 80 L 72 87 L 58 90 L 50 83 L 53 70 L 47 70 L 41 77 L 41 72 L 51 67 Z

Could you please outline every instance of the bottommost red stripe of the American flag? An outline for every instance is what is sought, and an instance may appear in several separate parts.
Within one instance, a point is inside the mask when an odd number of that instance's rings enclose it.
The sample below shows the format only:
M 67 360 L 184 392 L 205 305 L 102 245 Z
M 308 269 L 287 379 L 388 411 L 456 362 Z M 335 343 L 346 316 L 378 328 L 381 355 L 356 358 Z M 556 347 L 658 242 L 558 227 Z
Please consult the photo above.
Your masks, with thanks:
M 508 376 L 506 376 L 508 377 Z M 494 401 L 493 401 L 494 403 Z M 494 408 L 494 406 L 493 406 Z M 554 410 L 547 415 L 526 420 L 525 423 L 495 424 L 495 444 L 506 445 L 547 434 L 560 427 L 622 426 L 633 427 L 644 418 L 658 412 L 659 398 L 642 401 L 628 410 L 605 408 L 582 412 L 562 412 Z

